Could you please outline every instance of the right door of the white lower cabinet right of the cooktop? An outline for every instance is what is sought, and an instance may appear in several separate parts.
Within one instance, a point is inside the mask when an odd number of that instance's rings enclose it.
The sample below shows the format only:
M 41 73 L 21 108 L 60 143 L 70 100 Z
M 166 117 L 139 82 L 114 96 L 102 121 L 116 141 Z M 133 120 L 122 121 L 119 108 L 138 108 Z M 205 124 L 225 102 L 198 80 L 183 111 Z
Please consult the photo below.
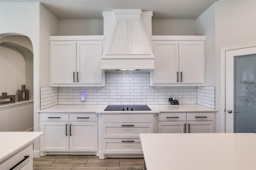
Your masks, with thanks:
M 187 133 L 214 133 L 214 121 L 187 121 Z

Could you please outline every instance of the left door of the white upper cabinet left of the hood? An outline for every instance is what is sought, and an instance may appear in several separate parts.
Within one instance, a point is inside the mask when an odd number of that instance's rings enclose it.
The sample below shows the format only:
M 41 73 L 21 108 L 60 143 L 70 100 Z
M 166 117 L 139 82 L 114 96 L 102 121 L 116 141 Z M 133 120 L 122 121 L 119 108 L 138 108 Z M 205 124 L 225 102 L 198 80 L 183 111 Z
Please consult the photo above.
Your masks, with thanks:
M 76 42 L 51 41 L 50 83 L 76 84 Z

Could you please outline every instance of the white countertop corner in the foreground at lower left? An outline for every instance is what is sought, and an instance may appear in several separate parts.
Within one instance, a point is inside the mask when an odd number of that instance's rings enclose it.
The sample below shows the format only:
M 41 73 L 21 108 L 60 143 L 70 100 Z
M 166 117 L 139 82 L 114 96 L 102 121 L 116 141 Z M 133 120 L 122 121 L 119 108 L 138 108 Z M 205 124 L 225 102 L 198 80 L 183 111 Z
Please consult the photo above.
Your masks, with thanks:
M 44 132 L 0 132 L 0 163 L 43 134 Z

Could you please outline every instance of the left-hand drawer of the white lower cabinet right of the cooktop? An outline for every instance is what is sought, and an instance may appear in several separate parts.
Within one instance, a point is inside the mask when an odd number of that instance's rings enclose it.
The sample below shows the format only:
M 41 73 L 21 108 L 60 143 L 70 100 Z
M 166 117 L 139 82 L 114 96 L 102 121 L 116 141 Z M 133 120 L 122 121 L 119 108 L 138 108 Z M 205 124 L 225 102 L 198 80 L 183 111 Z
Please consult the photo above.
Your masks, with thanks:
M 186 121 L 186 113 L 159 113 L 158 121 Z

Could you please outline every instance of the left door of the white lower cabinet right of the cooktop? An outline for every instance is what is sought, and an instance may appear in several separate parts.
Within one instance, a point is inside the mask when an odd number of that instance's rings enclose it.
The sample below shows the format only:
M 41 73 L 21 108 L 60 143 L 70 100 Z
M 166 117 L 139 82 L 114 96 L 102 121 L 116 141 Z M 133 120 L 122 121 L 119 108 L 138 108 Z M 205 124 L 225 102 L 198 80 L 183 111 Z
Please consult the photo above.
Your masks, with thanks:
M 159 121 L 158 133 L 186 133 L 186 121 Z

